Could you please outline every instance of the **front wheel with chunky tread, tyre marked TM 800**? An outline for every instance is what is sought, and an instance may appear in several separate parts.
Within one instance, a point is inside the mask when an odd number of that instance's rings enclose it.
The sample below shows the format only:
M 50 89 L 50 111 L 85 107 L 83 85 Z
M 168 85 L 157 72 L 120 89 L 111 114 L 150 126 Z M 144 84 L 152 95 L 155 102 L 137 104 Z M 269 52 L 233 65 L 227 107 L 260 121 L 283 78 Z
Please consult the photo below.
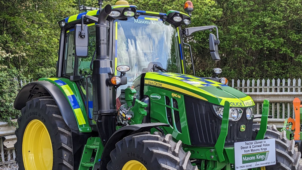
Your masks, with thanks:
M 197 170 L 190 162 L 190 152 L 175 143 L 172 135 L 137 133 L 116 143 L 110 153 L 108 170 Z

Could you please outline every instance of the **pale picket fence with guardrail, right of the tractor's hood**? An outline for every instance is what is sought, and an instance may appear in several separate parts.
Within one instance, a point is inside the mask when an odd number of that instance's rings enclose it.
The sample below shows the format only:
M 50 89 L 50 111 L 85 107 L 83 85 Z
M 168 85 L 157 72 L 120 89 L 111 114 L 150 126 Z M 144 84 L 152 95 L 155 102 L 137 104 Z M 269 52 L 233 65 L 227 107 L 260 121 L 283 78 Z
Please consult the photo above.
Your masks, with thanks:
M 257 114 L 261 114 L 263 100 L 270 101 L 269 115 L 275 119 L 294 118 L 292 101 L 296 97 L 302 100 L 301 79 L 232 79 L 230 86 L 253 98 Z

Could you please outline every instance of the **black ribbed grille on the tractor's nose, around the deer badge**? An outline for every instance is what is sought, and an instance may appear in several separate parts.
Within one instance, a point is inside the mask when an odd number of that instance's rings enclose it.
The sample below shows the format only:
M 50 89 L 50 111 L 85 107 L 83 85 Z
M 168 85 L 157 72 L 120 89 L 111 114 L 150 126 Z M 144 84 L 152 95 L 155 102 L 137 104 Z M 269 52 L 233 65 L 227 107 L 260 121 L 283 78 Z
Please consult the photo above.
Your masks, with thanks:
M 185 107 L 188 120 L 191 144 L 196 146 L 214 146 L 220 134 L 221 119 L 216 115 L 212 104 L 196 98 L 185 96 Z M 249 141 L 252 139 L 252 120 L 245 116 L 234 122 L 229 121 L 225 146 L 234 146 L 235 142 Z M 240 126 L 246 125 L 245 131 L 240 131 Z

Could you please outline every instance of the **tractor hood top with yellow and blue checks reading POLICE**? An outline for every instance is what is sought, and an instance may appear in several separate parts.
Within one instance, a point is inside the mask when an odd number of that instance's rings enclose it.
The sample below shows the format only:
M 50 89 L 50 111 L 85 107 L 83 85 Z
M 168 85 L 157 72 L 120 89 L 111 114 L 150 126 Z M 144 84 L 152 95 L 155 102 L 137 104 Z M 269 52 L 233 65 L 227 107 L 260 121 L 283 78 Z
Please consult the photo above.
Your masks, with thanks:
M 225 101 L 229 101 L 231 107 L 249 107 L 255 105 L 252 98 L 241 91 L 219 82 L 192 75 L 147 72 L 144 84 L 177 91 L 184 95 L 222 106 Z

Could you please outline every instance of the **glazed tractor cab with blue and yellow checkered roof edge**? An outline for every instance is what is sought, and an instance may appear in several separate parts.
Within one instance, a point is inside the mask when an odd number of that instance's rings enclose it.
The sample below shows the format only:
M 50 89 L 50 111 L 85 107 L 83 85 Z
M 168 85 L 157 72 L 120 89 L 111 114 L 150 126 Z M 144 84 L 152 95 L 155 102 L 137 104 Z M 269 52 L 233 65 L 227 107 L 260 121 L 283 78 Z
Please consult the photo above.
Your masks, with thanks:
M 83 19 L 82 16 L 98 16 L 99 9 L 91 11 L 91 7 L 82 6 L 81 8 L 86 11 L 59 21 L 61 39 L 57 76 L 67 77 L 79 83 L 84 99 L 86 95 L 88 96 L 89 117 L 92 118 L 92 77 L 90 75 L 96 55 L 95 24 L 97 23 Z M 213 28 L 217 30 L 215 26 L 182 29 L 191 23 L 190 15 L 193 5 L 190 1 L 186 2 L 185 11 L 188 14 L 174 10 L 167 13 L 141 11 L 126 1 L 118 1 L 112 6 L 112 11 L 106 20 L 109 28 L 108 56 L 112 60 L 115 76 L 120 75 L 115 70 L 117 66 L 125 65 L 130 68 L 126 73 L 127 83 L 117 86 L 117 105 L 126 103 L 124 89 L 134 87 L 133 81 L 146 72 L 186 73 L 183 45 L 188 44 L 183 42 L 182 36 L 191 35 L 200 30 L 212 30 Z M 87 50 L 85 56 L 76 56 L 75 26 L 77 24 L 85 25 L 88 28 L 86 33 L 88 48 L 85 48 Z M 212 51 L 216 52 L 213 59 L 220 60 L 217 48 L 219 40 L 216 40 L 215 35 L 212 36 L 212 39 L 213 46 L 210 43 L 210 47 L 212 47 Z M 137 97 L 140 98 L 139 95 Z M 94 124 L 94 121 L 90 122 L 92 125 Z

